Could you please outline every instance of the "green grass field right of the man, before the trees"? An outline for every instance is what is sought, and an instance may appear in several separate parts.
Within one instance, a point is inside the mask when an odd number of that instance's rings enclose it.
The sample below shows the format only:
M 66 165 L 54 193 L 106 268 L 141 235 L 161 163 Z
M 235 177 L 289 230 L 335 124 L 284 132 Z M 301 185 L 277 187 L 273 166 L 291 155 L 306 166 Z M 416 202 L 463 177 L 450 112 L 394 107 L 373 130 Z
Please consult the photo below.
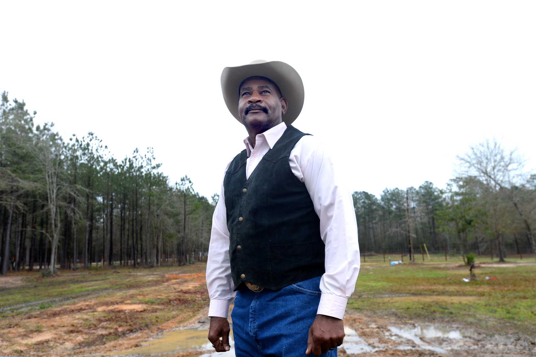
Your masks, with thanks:
M 444 256 L 434 256 L 431 262 L 426 258 L 425 263 L 419 258 L 420 264 L 407 264 L 405 257 L 406 264 L 396 266 L 383 263 L 383 256 L 367 257 L 367 263 L 362 259 L 348 309 L 536 333 L 536 264 L 494 267 L 485 264 L 492 262 L 489 257 L 477 257 L 478 280 L 465 282 L 469 271 L 461 257 L 457 262 L 449 259 L 450 264 Z M 533 263 L 534 258 L 507 261 Z

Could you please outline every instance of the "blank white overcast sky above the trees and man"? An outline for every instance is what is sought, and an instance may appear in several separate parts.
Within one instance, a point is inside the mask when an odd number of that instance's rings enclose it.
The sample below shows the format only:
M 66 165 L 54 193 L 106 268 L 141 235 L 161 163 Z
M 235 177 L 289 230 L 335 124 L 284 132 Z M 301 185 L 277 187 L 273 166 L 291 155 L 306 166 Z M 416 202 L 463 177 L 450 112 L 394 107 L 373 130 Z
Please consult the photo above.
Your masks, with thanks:
M 284 61 L 301 75 L 294 126 L 331 148 L 351 191 L 444 188 L 486 138 L 536 168 L 536 3 L 0 3 L 0 91 L 94 131 L 117 159 L 154 147 L 170 181 L 220 191 L 245 129 L 225 66 Z M 292 105 L 292 103 L 290 104 Z

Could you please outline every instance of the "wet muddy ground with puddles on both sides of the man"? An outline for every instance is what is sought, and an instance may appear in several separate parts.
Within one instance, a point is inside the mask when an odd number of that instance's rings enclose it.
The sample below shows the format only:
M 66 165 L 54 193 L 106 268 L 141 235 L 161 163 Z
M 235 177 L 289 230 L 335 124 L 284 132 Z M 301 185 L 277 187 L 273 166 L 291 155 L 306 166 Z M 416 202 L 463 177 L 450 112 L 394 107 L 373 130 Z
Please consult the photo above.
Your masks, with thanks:
M 222 355 L 213 351 L 207 341 L 208 318 L 181 329 L 167 331 L 138 347 L 110 352 L 108 356 L 202 356 Z M 439 324 L 415 324 L 349 313 L 345 318 L 344 343 L 338 355 L 346 356 L 536 356 L 536 346 L 528 337 L 490 334 Z M 231 349 L 225 353 L 234 357 Z

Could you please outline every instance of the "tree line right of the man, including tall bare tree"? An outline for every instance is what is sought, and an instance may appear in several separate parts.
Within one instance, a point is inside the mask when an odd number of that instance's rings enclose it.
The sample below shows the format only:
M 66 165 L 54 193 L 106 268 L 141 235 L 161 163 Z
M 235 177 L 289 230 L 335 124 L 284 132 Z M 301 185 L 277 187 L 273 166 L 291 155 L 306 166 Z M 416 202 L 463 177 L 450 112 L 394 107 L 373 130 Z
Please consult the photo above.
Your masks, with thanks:
M 385 189 L 377 198 L 354 192 L 359 244 L 367 252 L 415 255 L 507 254 L 536 256 L 536 175 L 523 170 L 517 150 L 497 140 L 458 156 L 459 176 L 446 189 L 431 182 L 406 190 Z M 425 246 L 426 245 L 426 246 Z M 423 248 L 424 247 L 424 248 Z

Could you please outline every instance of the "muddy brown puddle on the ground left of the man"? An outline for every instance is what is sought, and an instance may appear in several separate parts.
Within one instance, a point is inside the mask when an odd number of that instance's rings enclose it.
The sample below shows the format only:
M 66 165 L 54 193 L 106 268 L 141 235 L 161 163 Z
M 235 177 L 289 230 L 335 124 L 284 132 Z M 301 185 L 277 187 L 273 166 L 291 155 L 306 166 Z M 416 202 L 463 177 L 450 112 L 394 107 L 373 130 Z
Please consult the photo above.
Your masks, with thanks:
M 212 344 L 207 340 L 207 330 L 184 329 L 164 332 L 153 340 L 148 340 L 142 343 L 139 347 L 125 349 L 119 352 L 111 352 L 109 356 L 161 356 L 170 353 L 188 351 L 191 349 L 199 349 L 205 351 L 212 349 Z M 231 350 L 226 356 L 234 356 L 234 341 L 233 336 L 230 336 Z M 203 354 L 203 357 L 213 356 L 213 354 Z

